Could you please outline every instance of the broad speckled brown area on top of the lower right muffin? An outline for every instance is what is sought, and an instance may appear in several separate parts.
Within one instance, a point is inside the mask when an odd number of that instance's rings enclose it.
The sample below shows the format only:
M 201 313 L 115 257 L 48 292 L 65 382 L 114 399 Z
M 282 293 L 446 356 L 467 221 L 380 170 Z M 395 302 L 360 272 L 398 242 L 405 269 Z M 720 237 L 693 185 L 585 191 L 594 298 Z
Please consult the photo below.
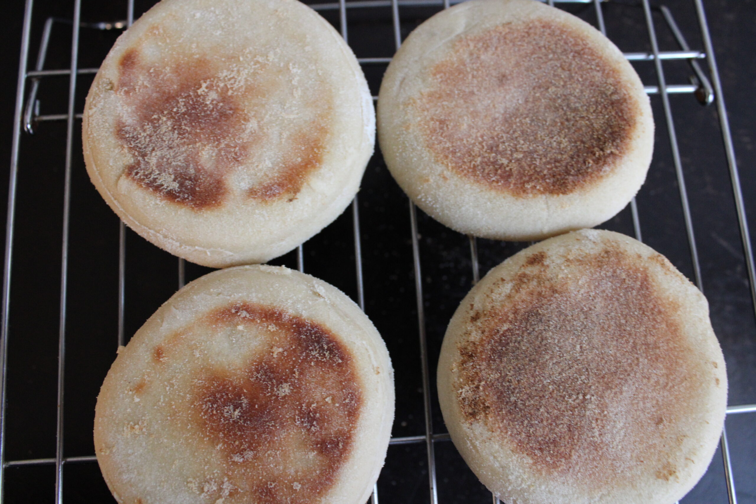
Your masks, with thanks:
M 603 484 L 643 466 L 674 478 L 665 453 L 682 444 L 686 397 L 705 376 L 680 307 L 616 246 L 565 264 L 581 273 L 557 280 L 543 257 L 525 261 L 507 294 L 472 315 L 476 336 L 459 347 L 463 417 L 548 474 Z

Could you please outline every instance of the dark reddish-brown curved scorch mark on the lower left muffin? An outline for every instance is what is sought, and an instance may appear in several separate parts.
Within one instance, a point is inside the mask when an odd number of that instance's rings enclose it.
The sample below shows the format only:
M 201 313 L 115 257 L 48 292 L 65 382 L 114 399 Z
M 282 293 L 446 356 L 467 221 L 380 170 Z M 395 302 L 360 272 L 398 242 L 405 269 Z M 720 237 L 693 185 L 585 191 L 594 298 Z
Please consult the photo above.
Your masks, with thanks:
M 349 351 L 324 326 L 251 303 L 220 308 L 212 326 L 270 332 L 242 369 L 206 369 L 194 422 L 225 458 L 228 481 L 260 504 L 319 502 L 349 456 L 362 405 Z

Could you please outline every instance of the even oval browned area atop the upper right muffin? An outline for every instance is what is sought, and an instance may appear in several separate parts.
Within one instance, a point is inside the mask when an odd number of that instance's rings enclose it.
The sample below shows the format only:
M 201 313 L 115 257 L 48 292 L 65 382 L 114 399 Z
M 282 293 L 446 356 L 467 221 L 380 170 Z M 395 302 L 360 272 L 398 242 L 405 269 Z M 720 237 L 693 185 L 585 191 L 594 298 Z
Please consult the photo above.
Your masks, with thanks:
M 627 153 L 639 105 L 575 28 L 507 23 L 457 39 L 413 106 L 438 162 L 491 190 L 561 195 Z

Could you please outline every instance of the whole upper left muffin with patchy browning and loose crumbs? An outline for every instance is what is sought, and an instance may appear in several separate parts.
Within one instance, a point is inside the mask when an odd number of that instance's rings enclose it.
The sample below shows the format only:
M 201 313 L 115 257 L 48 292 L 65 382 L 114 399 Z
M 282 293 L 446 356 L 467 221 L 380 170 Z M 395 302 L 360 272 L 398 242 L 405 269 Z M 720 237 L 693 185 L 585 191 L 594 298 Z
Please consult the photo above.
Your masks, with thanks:
M 210 267 L 268 261 L 335 219 L 373 152 L 360 66 L 296 0 L 163 0 L 113 46 L 84 158 L 142 237 Z

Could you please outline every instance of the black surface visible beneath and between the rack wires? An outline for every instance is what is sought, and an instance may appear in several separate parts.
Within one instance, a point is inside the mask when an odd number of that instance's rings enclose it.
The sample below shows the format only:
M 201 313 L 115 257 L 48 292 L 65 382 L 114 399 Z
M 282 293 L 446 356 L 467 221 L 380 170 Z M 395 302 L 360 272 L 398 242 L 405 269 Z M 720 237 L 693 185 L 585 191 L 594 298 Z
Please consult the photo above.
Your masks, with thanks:
M 136 2 L 137 12 L 151 2 Z M 705 0 L 709 26 L 717 51 L 724 97 L 741 170 L 748 218 L 756 219 L 756 2 Z M 32 52 L 36 55 L 42 23 L 48 16 L 71 17 L 73 2 L 36 2 Z M 637 2 L 603 5 L 609 37 L 623 51 L 648 51 L 643 12 Z M 126 2 L 84 0 L 82 19 L 118 20 Z M 692 0 L 665 2 L 680 24 L 689 45 L 702 49 Z M 2 121 L 0 159 L 10 159 L 12 113 L 20 40 L 21 2 L 3 5 Z M 401 8 L 402 35 L 437 8 Z M 590 7 L 567 10 L 595 23 Z M 338 23 L 336 11 L 326 14 Z M 655 17 L 662 50 L 677 46 L 663 20 Z M 82 29 L 79 65 L 98 66 L 117 33 Z M 389 8 L 349 11 L 349 41 L 358 57 L 388 57 L 393 52 Z M 48 69 L 69 65 L 70 26 L 56 24 Z M 702 62 L 704 63 L 704 62 Z M 634 63 L 646 85 L 655 85 L 651 62 Z M 373 93 L 385 65 L 364 66 Z M 664 64 L 669 84 L 686 84 L 690 74 L 684 62 Z M 82 109 L 91 76 L 82 76 L 77 110 Z M 42 113 L 65 113 L 67 79 L 45 79 L 40 88 Z M 715 107 L 702 107 L 690 94 L 670 98 L 680 147 L 680 158 L 692 207 L 692 221 L 702 272 L 702 284 L 711 304 L 711 320 L 720 339 L 730 379 L 730 404 L 756 403 L 756 323 L 745 274 L 727 159 Z M 656 148 L 649 178 L 637 197 L 643 239 L 692 278 L 677 179 L 674 176 L 662 101 L 652 97 L 657 124 Z M 45 122 L 34 136 L 23 135 L 14 240 L 13 297 L 8 348 L 8 413 L 6 459 L 36 459 L 55 455 L 57 327 L 60 278 L 61 209 L 65 159 L 65 122 Z M 74 135 L 79 145 L 78 131 Z M 70 287 L 68 290 L 67 372 L 65 404 L 66 456 L 86 456 L 91 441 L 95 397 L 116 350 L 116 285 L 118 221 L 89 183 L 78 147 L 73 156 Z M 6 175 L 0 177 L 5 193 Z M 386 339 L 397 380 L 395 436 L 423 434 L 423 395 L 417 342 L 414 274 L 407 199 L 386 171 L 380 153 L 370 161 L 360 193 L 362 246 L 367 314 Z M 438 356 L 446 323 L 471 285 L 466 237 L 419 214 L 429 360 Z M 628 209 L 603 227 L 631 234 Z M 751 226 L 756 232 L 756 228 Z M 516 243 L 479 240 L 482 271 L 488 271 L 522 248 Z M 273 261 L 296 265 L 293 254 Z M 355 297 L 352 215 L 346 212 L 305 244 L 305 271 L 333 283 Z M 177 261 L 127 233 L 126 334 L 131 335 L 177 288 Z M 187 277 L 205 273 L 187 265 Z M 433 375 L 434 373 L 432 373 Z M 433 381 L 433 380 L 432 380 Z M 445 432 L 433 392 L 436 432 Z M 756 413 L 727 419 L 738 499 L 756 504 Z M 453 445 L 436 447 L 438 500 L 491 502 Z M 423 444 L 389 448 L 379 480 L 381 502 L 429 502 L 427 459 Z M 51 465 L 8 468 L 6 502 L 52 502 L 54 468 Z M 94 463 L 70 464 L 64 470 L 65 502 L 112 502 Z M 702 481 L 683 499 L 686 504 L 727 502 L 720 453 Z

